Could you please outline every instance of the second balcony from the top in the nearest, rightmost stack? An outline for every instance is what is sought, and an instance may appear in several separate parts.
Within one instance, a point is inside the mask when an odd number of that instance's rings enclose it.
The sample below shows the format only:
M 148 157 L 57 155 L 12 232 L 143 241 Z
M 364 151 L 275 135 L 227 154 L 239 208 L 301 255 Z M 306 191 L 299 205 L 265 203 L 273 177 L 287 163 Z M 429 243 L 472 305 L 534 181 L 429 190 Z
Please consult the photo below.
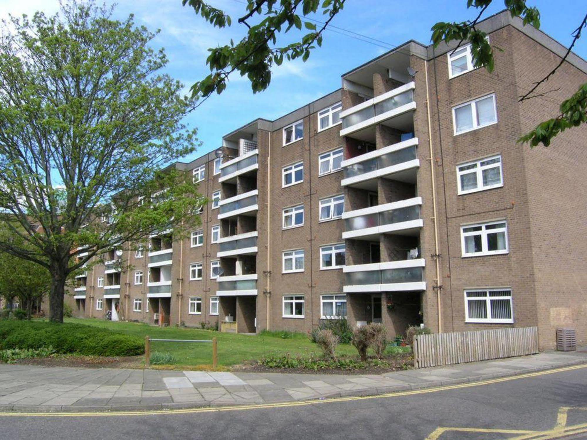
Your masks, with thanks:
M 355 187 L 376 191 L 377 178 L 383 177 L 400 182 L 416 182 L 420 167 L 416 147 L 418 138 L 413 137 L 370 153 L 361 154 L 342 161 L 343 187 Z

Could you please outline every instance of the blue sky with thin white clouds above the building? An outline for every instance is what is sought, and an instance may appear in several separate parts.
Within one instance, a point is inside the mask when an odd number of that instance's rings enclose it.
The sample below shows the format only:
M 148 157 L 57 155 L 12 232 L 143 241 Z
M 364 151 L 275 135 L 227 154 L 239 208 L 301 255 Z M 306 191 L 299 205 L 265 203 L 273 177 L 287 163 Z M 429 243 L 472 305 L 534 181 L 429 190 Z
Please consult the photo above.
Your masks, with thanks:
M 243 15 L 243 0 L 209 2 L 234 18 Z M 107 4 L 110 3 L 107 1 Z M 265 92 L 253 94 L 248 81 L 234 75 L 227 90 L 220 96 L 212 96 L 185 117 L 186 123 L 198 128 L 198 138 L 203 141 L 198 151 L 185 160 L 215 150 L 221 145 L 224 134 L 257 117 L 276 119 L 338 89 L 342 73 L 393 46 L 409 39 L 429 43 L 430 28 L 434 23 L 473 18 L 476 10 L 467 10 L 466 3 L 466 0 L 348 0 L 345 9 L 332 24 L 383 43 L 365 42 L 359 36 L 351 38 L 333 29 L 325 32 L 322 48 L 313 52 L 306 63 L 296 60 L 276 69 L 271 86 Z M 137 24 L 146 25 L 152 31 L 161 29 L 154 45 L 166 49 L 170 60 L 166 70 L 185 84 L 185 90 L 209 72 L 205 65 L 208 48 L 227 44 L 231 38 L 237 40 L 245 35 L 244 26 L 238 25 L 236 19 L 231 28 L 215 29 L 195 15 L 193 9 L 181 6 L 181 0 L 119 0 L 117 4 L 116 15 L 120 18 L 134 13 Z M 529 1 L 528 4 L 540 9 L 541 30 L 564 45 L 571 42 L 571 32 L 587 12 L 584 0 L 539 0 Z M 30 14 L 39 9 L 53 13 L 58 7 L 58 0 L 0 0 L 0 17 L 6 17 L 8 13 Z M 501 9 L 503 2 L 495 0 L 485 16 Z M 316 18 L 322 19 L 322 16 Z M 587 31 L 576 44 L 575 52 L 587 59 Z

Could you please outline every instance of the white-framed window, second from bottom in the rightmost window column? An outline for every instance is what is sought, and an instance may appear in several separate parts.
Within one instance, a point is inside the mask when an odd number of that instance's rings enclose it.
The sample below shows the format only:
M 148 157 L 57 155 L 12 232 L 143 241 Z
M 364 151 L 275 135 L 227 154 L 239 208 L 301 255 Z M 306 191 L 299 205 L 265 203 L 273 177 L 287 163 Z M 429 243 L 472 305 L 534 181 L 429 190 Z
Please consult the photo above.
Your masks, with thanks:
M 505 220 L 461 226 L 463 256 L 508 253 L 508 231 Z

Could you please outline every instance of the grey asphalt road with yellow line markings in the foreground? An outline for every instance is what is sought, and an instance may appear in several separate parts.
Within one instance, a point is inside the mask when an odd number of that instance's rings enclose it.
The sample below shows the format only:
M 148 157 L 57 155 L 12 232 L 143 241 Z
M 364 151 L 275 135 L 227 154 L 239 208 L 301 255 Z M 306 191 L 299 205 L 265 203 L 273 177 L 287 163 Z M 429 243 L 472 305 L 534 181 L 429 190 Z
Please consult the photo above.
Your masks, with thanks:
M 575 409 L 581 407 L 586 408 Z M 587 368 L 420 394 L 191 411 L 10 415 L 0 417 L 0 439 L 542 439 L 562 434 L 552 431 L 557 423 L 566 427 L 569 438 L 582 439 L 587 433 Z

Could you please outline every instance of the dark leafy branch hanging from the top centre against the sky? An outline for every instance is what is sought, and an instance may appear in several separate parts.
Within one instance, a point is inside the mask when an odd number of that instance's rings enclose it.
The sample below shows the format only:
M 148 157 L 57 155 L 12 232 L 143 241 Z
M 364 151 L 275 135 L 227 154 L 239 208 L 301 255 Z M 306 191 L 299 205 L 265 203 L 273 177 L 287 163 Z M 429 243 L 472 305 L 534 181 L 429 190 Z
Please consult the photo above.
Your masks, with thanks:
M 232 19 L 220 9 L 213 8 L 203 0 L 183 0 L 194 11 L 217 28 L 230 26 Z M 301 58 L 306 61 L 312 49 L 322 45 L 322 33 L 338 12 L 345 0 L 247 0 L 244 15 L 237 22 L 247 26 L 247 35 L 239 42 L 211 48 L 206 63 L 211 73 L 191 87 L 193 97 L 203 98 L 200 105 L 212 93 L 222 93 L 228 76 L 233 72 L 247 75 L 253 92 L 265 90 L 271 83 L 271 69 L 285 60 Z M 322 12 L 326 21 L 320 28 L 309 16 Z M 291 29 L 309 32 L 294 43 L 276 46 L 279 33 Z

